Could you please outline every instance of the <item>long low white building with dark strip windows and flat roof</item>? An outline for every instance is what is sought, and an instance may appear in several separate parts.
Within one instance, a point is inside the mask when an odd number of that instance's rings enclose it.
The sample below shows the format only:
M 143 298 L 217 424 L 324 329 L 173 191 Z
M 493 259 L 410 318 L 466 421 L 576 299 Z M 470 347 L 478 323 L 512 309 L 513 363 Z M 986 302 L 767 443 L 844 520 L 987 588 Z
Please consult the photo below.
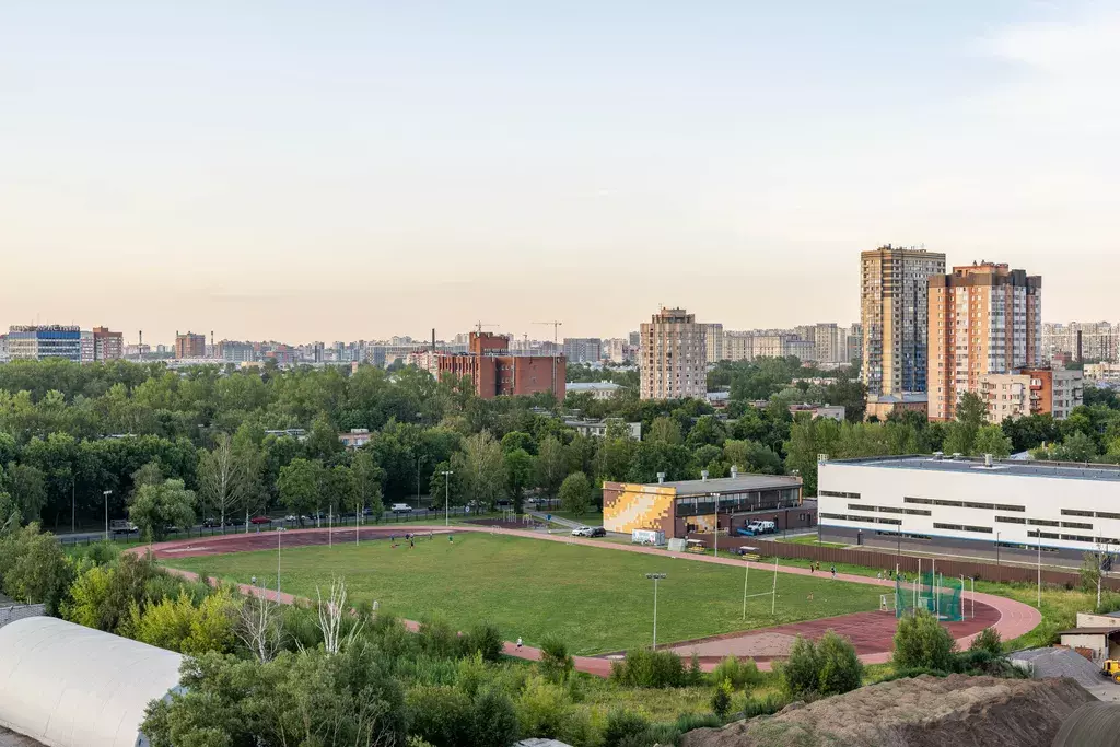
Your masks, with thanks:
M 1120 552 L 1120 466 L 933 456 L 818 465 L 832 542 L 1080 564 Z

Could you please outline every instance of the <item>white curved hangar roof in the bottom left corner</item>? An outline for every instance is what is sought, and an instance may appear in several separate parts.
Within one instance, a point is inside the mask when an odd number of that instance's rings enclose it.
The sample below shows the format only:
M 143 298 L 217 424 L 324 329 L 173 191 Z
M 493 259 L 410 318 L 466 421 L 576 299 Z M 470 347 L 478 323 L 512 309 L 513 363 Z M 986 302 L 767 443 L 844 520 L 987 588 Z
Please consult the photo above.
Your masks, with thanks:
M 0 726 L 47 747 L 137 747 L 183 656 L 53 617 L 0 627 Z M 146 744 L 146 743 L 144 743 Z

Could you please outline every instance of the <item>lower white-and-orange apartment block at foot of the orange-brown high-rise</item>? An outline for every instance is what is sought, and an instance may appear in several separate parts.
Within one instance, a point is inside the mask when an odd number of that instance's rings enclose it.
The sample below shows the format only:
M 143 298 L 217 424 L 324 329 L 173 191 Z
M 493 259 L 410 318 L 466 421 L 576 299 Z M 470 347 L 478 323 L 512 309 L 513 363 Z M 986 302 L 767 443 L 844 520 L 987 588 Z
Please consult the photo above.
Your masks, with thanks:
M 1082 404 L 1082 381 L 1080 371 L 1021 368 L 983 374 L 979 394 L 988 403 L 988 420 L 993 423 L 1040 414 L 1065 420 Z

